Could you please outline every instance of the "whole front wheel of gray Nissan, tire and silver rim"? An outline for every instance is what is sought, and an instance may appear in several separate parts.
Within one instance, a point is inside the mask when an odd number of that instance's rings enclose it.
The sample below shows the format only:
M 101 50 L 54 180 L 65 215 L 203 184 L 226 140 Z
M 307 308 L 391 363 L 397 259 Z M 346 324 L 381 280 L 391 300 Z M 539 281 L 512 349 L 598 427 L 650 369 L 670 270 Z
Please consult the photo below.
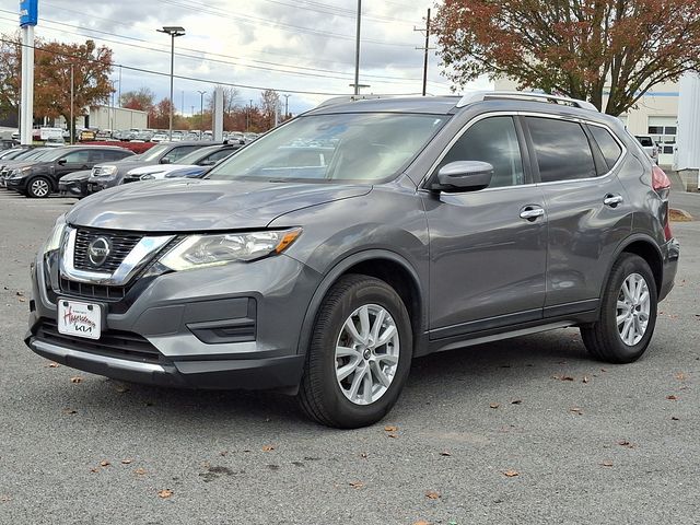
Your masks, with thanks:
M 412 335 L 404 302 L 386 282 L 351 275 L 320 305 L 299 393 L 328 427 L 359 428 L 392 409 L 408 376 Z

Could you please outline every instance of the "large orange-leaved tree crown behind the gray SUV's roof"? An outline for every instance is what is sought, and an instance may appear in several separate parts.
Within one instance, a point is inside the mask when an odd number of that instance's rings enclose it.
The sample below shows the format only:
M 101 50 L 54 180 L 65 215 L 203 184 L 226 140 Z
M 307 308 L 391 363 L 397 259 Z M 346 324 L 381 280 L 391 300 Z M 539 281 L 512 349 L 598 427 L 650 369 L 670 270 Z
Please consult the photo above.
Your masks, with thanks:
M 443 0 L 434 27 L 457 85 L 509 77 L 610 115 L 700 69 L 698 0 Z

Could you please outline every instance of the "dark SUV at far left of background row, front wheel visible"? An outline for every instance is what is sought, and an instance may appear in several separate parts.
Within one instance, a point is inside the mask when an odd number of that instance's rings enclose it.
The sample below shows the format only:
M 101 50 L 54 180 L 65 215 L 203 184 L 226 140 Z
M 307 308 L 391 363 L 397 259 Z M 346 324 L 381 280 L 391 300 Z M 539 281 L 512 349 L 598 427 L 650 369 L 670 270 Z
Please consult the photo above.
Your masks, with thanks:
M 58 182 L 65 175 L 91 168 L 98 162 L 118 161 L 133 155 L 124 148 L 110 145 L 69 145 L 56 148 L 34 161 L 15 164 L 5 184 L 26 197 L 48 197 L 58 191 Z

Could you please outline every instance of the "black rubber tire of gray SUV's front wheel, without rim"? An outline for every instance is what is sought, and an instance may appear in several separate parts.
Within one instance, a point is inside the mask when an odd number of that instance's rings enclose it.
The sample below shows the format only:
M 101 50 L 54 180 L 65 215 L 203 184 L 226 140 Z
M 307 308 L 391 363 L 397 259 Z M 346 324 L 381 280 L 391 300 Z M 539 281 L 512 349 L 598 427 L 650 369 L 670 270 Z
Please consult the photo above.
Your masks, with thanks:
M 364 305 L 378 305 L 392 316 L 398 332 L 398 363 L 386 392 L 374 402 L 357 405 L 341 390 L 336 376 L 336 345 L 342 326 Z M 306 352 L 298 399 L 303 411 L 327 427 L 355 429 L 380 421 L 392 409 L 408 377 L 413 353 L 411 324 L 404 302 L 386 282 L 343 276 L 326 294 L 316 316 Z

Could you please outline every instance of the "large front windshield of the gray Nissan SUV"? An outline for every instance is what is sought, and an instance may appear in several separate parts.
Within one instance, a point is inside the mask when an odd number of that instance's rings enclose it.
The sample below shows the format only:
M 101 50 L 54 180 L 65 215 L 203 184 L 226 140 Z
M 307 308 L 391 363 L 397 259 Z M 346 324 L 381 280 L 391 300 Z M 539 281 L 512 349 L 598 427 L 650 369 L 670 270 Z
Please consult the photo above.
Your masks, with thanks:
M 393 113 L 299 117 L 246 145 L 207 178 L 385 180 L 404 170 L 446 119 Z

